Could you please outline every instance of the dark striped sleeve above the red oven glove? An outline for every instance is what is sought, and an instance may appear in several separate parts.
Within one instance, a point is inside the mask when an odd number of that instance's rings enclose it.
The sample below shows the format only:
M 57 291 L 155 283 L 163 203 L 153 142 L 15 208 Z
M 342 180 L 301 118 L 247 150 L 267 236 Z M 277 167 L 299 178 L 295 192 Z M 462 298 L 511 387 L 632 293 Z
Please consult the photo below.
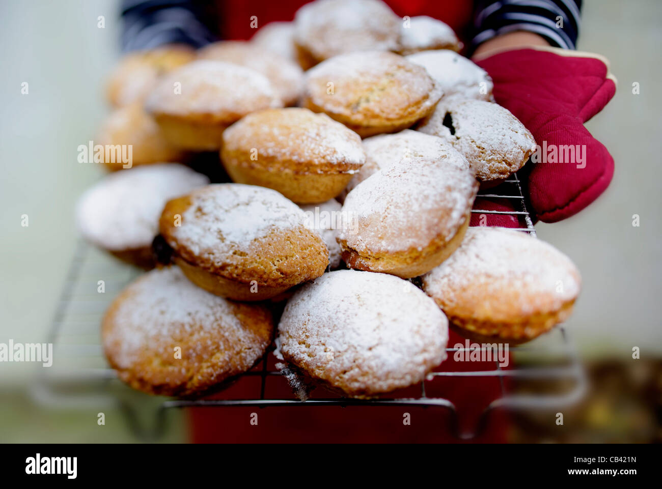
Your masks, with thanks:
M 526 30 L 544 37 L 549 44 L 575 49 L 579 35 L 582 0 L 477 0 L 475 35 L 471 44 Z

